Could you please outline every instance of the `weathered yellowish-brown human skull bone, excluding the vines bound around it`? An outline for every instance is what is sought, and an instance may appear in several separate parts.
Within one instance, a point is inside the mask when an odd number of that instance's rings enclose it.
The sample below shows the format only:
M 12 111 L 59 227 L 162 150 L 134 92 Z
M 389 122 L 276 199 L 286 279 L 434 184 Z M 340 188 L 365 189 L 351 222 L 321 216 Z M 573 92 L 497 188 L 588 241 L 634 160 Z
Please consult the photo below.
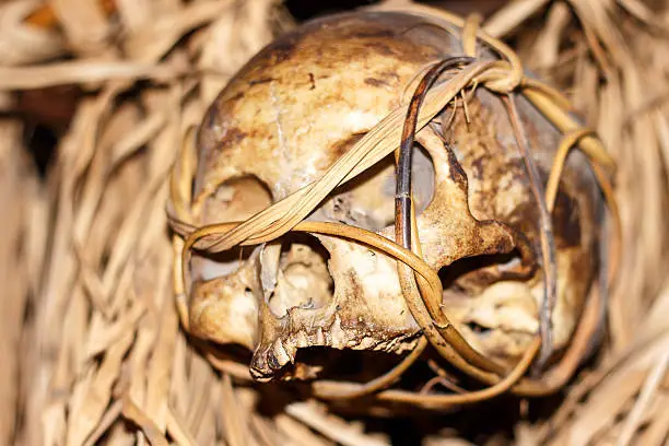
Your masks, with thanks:
M 298 27 L 254 57 L 208 110 L 198 137 L 198 225 L 244 221 L 319 178 L 390 110 L 427 63 L 462 54 L 460 30 L 437 19 L 366 11 Z M 479 48 L 480 58 L 492 58 Z M 560 133 L 518 101 L 545 180 Z M 539 327 L 543 300 L 539 211 L 501 99 L 478 89 L 419 133 L 413 197 L 423 258 L 443 279 L 443 309 L 469 343 L 512 364 Z M 399 143 L 399 141 L 398 141 Z M 394 238 L 392 156 L 334 189 L 309 220 Z M 597 266 L 600 199 L 574 153 L 553 211 L 563 349 Z M 254 352 L 254 377 L 295 375 L 298 349 L 411 349 L 420 328 L 402 298 L 397 261 L 331 236 L 287 234 L 190 265 L 190 330 Z M 296 371 L 300 367 L 294 368 Z M 304 368 L 303 368 L 304 371 Z

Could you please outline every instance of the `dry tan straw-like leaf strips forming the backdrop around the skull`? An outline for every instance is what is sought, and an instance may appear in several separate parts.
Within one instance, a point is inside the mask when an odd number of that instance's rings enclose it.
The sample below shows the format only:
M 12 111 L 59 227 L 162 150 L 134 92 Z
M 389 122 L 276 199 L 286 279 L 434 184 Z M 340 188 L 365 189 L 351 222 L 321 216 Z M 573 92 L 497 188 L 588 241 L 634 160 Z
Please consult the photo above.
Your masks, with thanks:
M 668 441 L 667 5 L 521 0 L 484 23 L 568 94 L 615 159 L 624 256 L 605 344 L 556 402 L 540 415 L 521 402 L 467 441 L 467 423 L 441 418 L 425 444 Z M 383 424 L 313 401 L 257 411 L 260 394 L 179 329 L 172 164 L 226 80 L 292 25 L 273 0 L 0 2 L 1 444 L 389 444 Z M 26 119 L 54 122 L 68 108 L 49 101 L 54 87 L 72 84 L 73 116 L 40 176 L 22 150 Z M 28 106 L 35 89 L 46 90 Z

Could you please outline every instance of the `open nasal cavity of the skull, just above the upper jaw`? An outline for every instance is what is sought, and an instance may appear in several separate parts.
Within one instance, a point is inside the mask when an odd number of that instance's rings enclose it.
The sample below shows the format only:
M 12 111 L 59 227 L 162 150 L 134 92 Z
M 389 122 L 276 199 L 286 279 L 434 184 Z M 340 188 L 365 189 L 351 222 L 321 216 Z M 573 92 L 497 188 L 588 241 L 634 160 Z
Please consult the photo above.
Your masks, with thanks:
M 321 308 L 330 302 L 334 282 L 328 271 L 329 258 L 320 242 L 307 234 L 289 234 L 265 248 L 263 277 L 267 271 L 275 271 L 271 283 L 263 283 L 274 316 L 283 317 L 290 308 Z M 268 285 L 272 287 L 269 292 Z

